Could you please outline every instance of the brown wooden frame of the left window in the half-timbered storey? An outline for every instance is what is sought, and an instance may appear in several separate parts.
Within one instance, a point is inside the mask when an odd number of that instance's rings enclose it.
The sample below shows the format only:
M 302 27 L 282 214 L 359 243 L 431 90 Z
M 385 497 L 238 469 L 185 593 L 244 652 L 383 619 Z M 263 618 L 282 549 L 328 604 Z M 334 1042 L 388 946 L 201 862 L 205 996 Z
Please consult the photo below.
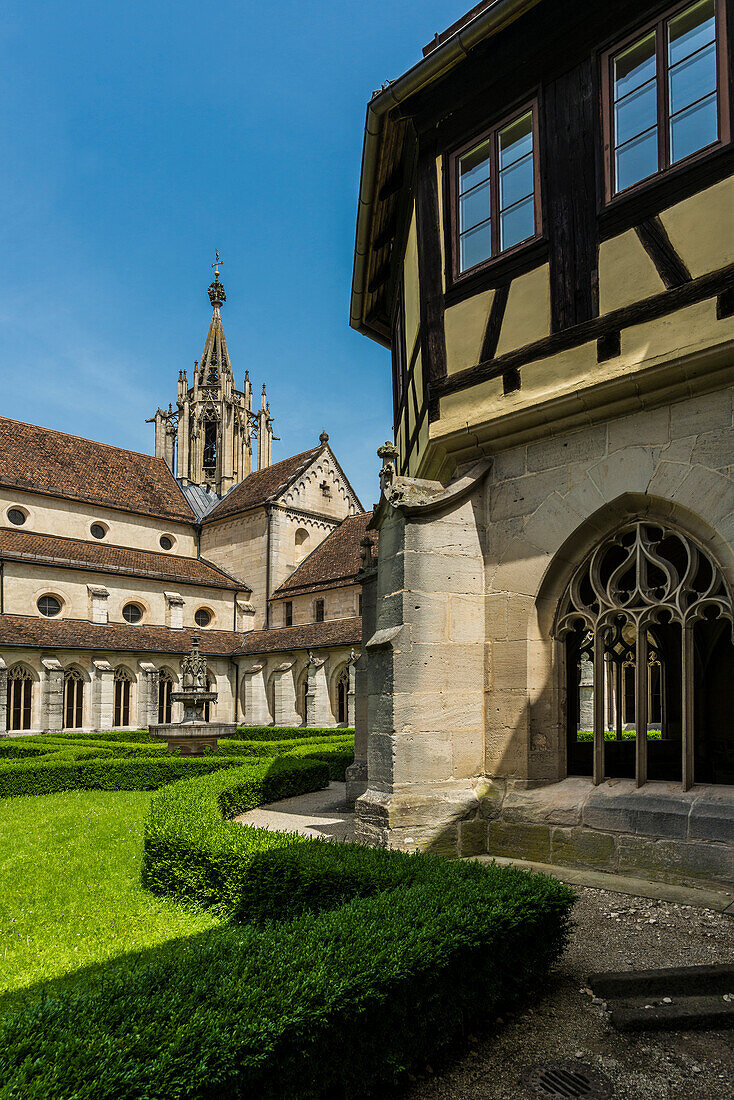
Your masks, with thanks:
M 530 112 L 533 120 L 533 198 L 535 208 L 535 233 L 533 237 L 526 238 L 524 241 L 519 241 L 517 244 L 513 244 L 510 249 L 504 249 L 502 251 L 495 250 L 495 245 L 500 241 L 500 169 L 497 167 L 497 148 L 496 148 L 496 138 L 501 130 L 510 125 L 516 119 L 523 117 Z M 486 260 L 483 260 L 479 264 L 474 264 L 473 267 L 467 267 L 465 271 L 461 271 L 461 241 L 460 241 L 460 226 L 459 226 L 459 162 L 462 156 L 469 153 L 476 145 L 481 145 L 484 141 L 492 141 L 492 155 L 490 158 L 490 219 L 491 219 L 491 234 L 492 234 L 492 255 Z M 502 264 L 508 256 L 514 256 L 533 244 L 536 244 L 543 238 L 543 201 L 540 197 L 540 132 L 539 132 L 539 108 L 538 108 L 538 97 L 535 96 L 533 99 L 527 100 L 521 107 L 515 108 L 508 114 L 503 116 L 497 122 L 493 122 L 491 127 L 485 130 L 475 133 L 470 141 L 463 142 L 458 148 L 453 148 L 448 153 L 448 180 L 449 180 L 449 211 L 450 211 L 450 242 L 451 242 L 451 256 L 450 256 L 450 271 L 451 271 L 451 283 L 461 283 L 465 278 L 470 278 L 476 275 L 478 272 L 484 272 L 497 264 Z

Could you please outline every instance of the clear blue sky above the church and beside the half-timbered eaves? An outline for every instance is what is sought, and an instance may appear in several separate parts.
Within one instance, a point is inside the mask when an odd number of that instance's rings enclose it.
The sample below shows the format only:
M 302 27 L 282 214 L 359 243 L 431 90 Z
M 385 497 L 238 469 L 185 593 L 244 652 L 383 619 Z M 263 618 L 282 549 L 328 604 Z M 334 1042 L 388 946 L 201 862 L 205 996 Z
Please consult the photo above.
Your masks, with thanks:
M 348 324 L 364 112 L 470 0 L 12 0 L 0 23 L 0 411 L 152 451 L 215 249 L 277 460 L 326 428 L 365 507 L 388 354 Z

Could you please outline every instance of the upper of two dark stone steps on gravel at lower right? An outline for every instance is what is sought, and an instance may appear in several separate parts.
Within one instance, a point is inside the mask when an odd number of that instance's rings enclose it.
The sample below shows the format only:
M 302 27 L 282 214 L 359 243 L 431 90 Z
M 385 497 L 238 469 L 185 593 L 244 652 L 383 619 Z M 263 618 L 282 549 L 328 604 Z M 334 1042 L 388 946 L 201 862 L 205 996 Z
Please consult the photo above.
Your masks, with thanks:
M 609 970 L 592 974 L 589 986 L 605 1001 L 627 998 L 734 997 L 734 966 L 667 967 L 661 970 Z

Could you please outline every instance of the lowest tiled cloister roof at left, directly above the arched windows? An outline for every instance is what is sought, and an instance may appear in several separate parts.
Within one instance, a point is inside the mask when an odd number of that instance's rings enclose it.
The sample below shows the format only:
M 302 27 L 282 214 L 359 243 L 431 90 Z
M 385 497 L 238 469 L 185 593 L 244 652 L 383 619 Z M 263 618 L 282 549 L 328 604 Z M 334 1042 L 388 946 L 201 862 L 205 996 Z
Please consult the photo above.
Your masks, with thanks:
M 129 623 L 88 623 L 86 619 L 45 619 L 32 615 L 0 615 L 0 646 L 33 649 L 96 649 L 135 653 L 188 653 L 190 629 L 131 626 Z M 199 649 L 209 657 L 230 657 L 244 635 L 232 630 L 200 630 Z

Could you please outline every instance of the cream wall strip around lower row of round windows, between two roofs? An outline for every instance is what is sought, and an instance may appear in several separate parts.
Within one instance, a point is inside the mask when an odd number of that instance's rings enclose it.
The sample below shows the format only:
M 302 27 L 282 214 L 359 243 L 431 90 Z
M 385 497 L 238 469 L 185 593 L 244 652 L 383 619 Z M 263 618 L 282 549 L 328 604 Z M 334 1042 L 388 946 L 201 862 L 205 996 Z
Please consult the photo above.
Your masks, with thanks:
M 40 596 L 51 594 L 63 601 L 59 618 L 89 619 L 88 584 L 106 587 L 110 623 L 124 623 L 122 608 L 134 601 L 144 610 L 143 625 L 166 625 L 166 600 L 171 581 L 153 581 L 142 576 L 120 578 L 91 570 L 59 569 L 55 565 L 32 565 L 29 562 L 7 561 L 4 568 L 3 606 L 7 615 L 41 617 L 36 603 Z M 231 630 L 233 625 L 234 593 L 221 590 L 175 585 L 184 597 L 184 626 L 194 626 L 194 614 L 206 607 L 213 614 L 212 629 Z M 51 622 L 51 620 L 50 620 Z

